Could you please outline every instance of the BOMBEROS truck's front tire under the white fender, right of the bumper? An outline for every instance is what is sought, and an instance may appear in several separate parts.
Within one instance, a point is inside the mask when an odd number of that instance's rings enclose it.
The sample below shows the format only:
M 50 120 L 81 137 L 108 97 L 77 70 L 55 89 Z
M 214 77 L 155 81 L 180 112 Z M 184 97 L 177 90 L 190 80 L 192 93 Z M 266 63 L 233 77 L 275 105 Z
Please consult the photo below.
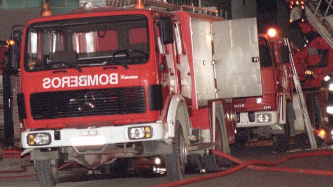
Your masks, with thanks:
M 176 132 L 173 142 L 173 154 L 167 154 L 165 160 L 167 178 L 169 181 L 179 181 L 184 179 L 187 163 L 187 142 L 179 121 L 176 121 Z

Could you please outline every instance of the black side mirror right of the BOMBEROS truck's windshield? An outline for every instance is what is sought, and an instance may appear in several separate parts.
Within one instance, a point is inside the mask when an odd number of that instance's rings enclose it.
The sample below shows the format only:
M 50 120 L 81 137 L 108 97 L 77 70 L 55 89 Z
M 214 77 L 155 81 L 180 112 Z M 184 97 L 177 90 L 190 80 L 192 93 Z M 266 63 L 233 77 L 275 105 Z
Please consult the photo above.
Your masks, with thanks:
M 159 19 L 161 41 L 163 44 L 173 43 L 173 24 L 169 17 L 161 17 Z

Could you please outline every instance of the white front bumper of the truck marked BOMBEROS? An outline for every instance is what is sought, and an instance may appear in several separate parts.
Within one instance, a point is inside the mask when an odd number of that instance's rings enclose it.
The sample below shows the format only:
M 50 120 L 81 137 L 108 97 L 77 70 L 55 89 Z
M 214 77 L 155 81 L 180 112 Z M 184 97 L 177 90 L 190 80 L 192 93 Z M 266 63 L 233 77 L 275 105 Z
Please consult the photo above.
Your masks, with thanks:
M 150 126 L 152 137 L 146 139 L 130 139 L 128 129 L 131 127 Z M 49 145 L 28 144 L 28 134 L 48 133 L 51 135 Z M 57 135 L 57 134 L 60 134 Z M 115 143 L 128 143 L 137 141 L 162 140 L 167 134 L 167 123 L 145 123 L 124 126 L 107 126 L 107 127 L 89 127 L 86 129 L 60 129 L 60 130 L 40 130 L 25 131 L 21 134 L 21 144 L 25 149 L 28 148 L 50 148 L 66 146 L 93 146 L 106 145 Z

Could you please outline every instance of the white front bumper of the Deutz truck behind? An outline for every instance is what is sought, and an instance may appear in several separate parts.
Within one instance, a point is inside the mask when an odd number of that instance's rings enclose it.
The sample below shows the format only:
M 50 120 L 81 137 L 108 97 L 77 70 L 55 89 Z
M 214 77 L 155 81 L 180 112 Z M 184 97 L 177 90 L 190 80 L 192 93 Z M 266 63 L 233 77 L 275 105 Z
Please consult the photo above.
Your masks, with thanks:
M 260 114 L 271 114 L 272 118 L 269 122 L 257 122 L 257 116 Z M 240 112 L 240 120 L 236 125 L 236 128 L 241 127 L 262 127 L 262 126 L 272 126 L 278 124 L 278 111 L 259 111 L 254 112 L 254 121 L 250 122 L 248 112 Z

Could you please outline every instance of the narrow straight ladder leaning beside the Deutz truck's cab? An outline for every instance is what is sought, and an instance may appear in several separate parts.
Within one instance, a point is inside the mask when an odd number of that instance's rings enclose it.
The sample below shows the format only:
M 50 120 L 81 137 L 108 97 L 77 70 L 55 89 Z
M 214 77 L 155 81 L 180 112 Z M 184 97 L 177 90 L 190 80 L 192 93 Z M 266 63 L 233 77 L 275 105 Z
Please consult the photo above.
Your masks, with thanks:
M 292 73 L 293 73 L 293 80 L 294 80 L 294 84 L 295 84 L 295 87 L 296 87 L 298 101 L 300 103 L 300 107 L 301 107 L 301 110 L 302 110 L 302 115 L 303 115 L 306 131 L 307 131 L 307 135 L 309 137 L 311 148 L 315 149 L 315 148 L 317 148 L 317 142 L 316 142 L 316 139 L 315 139 L 314 134 L 313 134 L 313 130 L 312 130 L 311 122 L 310 122 L 310 117 L 309 117 L 309 114 L 307 112 L 307 107 L 306 107 L 306 104 L 305 104 L 305 99 L 304 99 L 301 83 L 300 83 L 300 80 L 299 80 L 297 72 L 296 72 L 295 63 L 294 63 L 294 59 L 293 59 L 292 52 L 291 52 L 291 49 L 290 49 L 290 44 L 289 44 L 288 38 L 284 38 L 284 42 L 285 42 L 285 44 L 287 44 L 288 49 L 289 49 L 289 58 L 290 58 L 290 64 L 291 64 L 291 69 L 292 69 Z

